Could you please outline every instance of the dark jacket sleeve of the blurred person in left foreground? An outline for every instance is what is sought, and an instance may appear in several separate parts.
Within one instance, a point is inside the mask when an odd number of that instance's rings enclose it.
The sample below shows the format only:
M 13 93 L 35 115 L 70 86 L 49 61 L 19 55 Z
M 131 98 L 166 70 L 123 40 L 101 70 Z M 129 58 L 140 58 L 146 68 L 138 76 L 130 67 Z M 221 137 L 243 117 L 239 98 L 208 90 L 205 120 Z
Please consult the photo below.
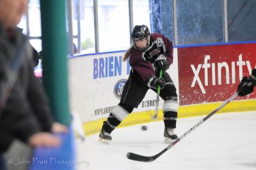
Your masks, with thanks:
M 1 112 L 0 130 L 27 143 L 31 135 L 50 131 L 52 122 L 51 111 L 42 86 L 33 75 L 33 66 L 29 66 L 28 61 L 25 61 Z M 8 144 L 10 140 L 12 138 L 8 137 L 3 143 Z

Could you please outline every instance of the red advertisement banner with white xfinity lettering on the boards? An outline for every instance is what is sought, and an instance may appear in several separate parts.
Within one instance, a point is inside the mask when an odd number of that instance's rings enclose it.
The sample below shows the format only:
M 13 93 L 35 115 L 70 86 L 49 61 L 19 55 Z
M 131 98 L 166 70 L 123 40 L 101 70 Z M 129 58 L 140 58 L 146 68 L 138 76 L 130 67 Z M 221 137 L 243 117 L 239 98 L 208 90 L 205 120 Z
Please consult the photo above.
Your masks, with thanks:
M 256 67 L 255 49 L 255 43 L 178 48 L 179 105 L 227 100 Z

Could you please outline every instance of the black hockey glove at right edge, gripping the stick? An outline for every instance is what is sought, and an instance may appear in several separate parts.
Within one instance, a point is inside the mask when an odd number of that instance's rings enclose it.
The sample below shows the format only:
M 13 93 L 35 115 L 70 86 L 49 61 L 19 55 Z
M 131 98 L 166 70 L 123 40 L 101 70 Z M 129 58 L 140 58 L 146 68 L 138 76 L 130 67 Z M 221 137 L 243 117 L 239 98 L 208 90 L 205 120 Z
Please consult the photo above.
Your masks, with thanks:
M 243 77 L 240 84 L 238 85 L 238 95 L 244 97 L 253 92 L 254 84 L 251 77 Z

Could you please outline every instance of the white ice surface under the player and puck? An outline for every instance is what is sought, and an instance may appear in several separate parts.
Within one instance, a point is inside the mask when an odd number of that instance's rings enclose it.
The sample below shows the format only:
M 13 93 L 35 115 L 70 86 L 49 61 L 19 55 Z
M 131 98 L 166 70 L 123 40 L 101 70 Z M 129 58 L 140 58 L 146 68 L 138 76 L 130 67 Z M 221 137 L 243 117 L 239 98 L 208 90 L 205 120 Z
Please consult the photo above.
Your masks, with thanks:
M 177 120 L 175 132 L 184 134 L 204 116 Z M 108 145 L 98 142 L 98 134 L 76 140 L 77 169 L 256 169 L 256 111 L 214 114 L 154 162 L 136 162 L 127 152 L 152 156 L 168 146 L 164 144 L 163 121 L 116 128 Z

